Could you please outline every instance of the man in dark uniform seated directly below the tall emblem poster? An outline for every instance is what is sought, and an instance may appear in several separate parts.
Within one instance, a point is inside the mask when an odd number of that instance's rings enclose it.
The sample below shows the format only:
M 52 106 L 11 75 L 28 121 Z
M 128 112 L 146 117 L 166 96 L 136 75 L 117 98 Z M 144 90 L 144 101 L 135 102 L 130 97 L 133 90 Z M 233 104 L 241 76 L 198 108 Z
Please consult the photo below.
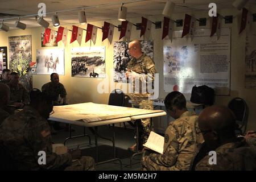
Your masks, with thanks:
M 17 109 L 23 108 L 24 105 L 30 103 L 27 90 L 19 84 L 18 73 L 12 72 L 10 74 L 10 82 L 8 83 L 10 88 L 10 104 L 16 106 Z

